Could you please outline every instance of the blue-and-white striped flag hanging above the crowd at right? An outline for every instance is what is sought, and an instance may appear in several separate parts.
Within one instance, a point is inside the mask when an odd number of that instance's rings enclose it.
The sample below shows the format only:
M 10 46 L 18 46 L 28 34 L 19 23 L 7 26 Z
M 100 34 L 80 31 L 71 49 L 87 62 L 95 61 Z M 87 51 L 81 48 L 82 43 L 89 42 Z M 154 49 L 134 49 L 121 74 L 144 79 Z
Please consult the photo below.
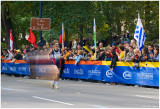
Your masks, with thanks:
M 137 26 L 136 26 L 135 33 L 134 33 L 134 39 L 136 39 L 138 41 L 138 48 L 141 51 L 146 38 L 145 38 L 144 29 L 143 29 L 141 19 L 139 17 L 139 13 L 138 13 Z

